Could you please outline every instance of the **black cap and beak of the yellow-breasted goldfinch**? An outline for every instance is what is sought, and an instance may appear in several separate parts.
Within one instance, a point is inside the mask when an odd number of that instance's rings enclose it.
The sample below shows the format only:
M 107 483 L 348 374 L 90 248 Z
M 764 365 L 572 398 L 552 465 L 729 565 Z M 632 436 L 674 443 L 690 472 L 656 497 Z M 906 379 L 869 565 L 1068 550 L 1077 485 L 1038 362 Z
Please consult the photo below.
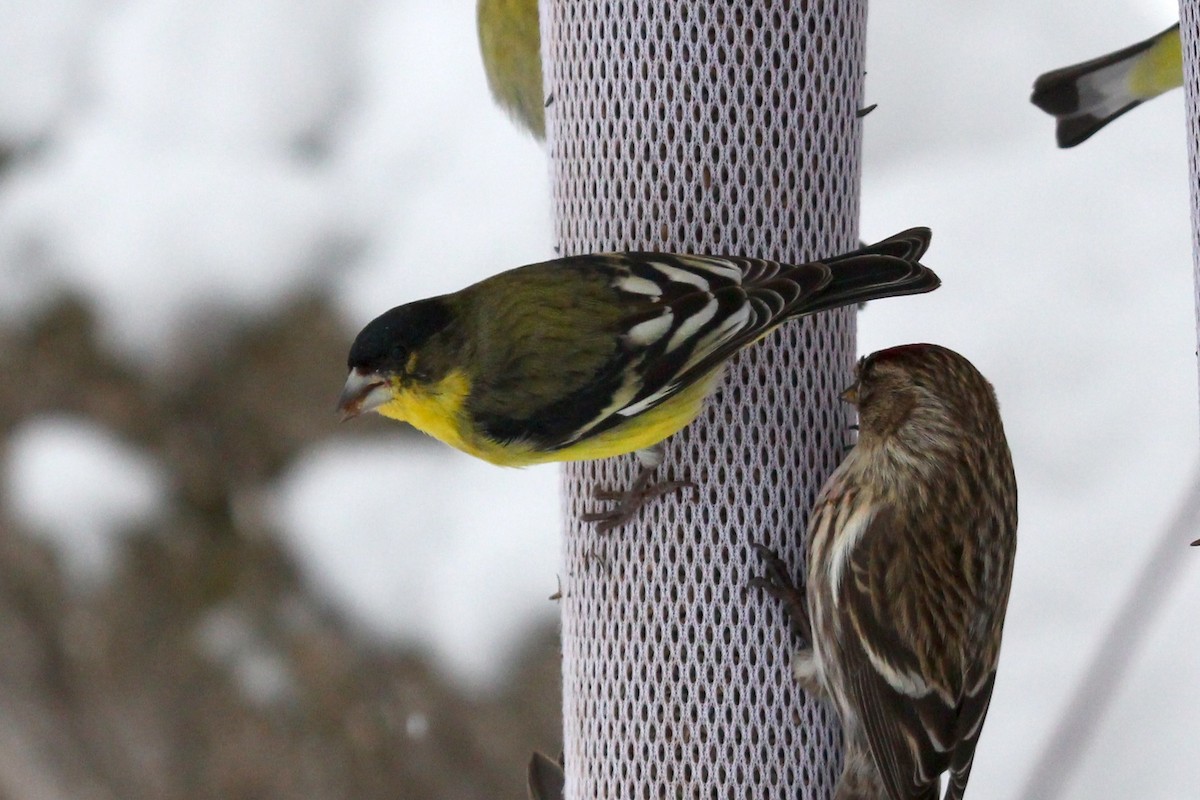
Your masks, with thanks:
M 392 398 L 392 381 L 410 372 L 416 349 L 451 320 L 450 306 L 432 297 L 397 306 L 371 320 L 354 344 L 350 374 L 337 398 L 342 421 L 373 411 Z

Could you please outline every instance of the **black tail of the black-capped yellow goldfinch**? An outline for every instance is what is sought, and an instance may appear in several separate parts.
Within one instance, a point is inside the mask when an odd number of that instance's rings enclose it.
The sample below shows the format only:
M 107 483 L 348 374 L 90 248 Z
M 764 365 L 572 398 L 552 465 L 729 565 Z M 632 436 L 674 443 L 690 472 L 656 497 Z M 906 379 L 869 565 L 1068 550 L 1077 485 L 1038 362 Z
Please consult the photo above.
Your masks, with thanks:
M 790 309 L 790 315 L 932 291 L 942 282 L 918 260 L 929 248 L 930 236 L 929 228 L 910 228 L 881 242 L 821 259 L 829 267 L 828 283 Z

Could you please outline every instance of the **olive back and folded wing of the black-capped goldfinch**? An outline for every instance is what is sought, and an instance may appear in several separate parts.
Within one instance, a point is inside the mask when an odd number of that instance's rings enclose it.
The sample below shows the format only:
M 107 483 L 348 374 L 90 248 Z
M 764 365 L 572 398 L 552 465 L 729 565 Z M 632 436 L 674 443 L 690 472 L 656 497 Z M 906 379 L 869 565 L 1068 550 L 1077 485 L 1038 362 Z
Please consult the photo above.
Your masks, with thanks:
M 493 440 L 540 450 L 608 431 L 703 379 L 829 281 L 824 264 L 782 269 L 665 253 L 523 267 L 488 289 L 506 295 L 478 323 L 491 368 L 470 413 Z

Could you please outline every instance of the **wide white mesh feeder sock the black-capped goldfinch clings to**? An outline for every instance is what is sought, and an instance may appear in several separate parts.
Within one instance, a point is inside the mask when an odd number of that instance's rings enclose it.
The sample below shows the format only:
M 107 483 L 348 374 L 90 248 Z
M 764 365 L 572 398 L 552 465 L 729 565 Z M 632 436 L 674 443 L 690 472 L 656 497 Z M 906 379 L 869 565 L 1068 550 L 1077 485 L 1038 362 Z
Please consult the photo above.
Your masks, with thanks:
M 563 254 L 800 260 L 856 246 L 865 1 L 542 0 Z M 880 231 L 889 234 L 893 231 Z M 578 522 L 634 457 L 565 470 L 566 796 L 827 798 L 833 715 L 800 697 L 752 541 L 802 573 L 804 521 L 848 433 L 846 309 L 736 359 L 667 447 L 678 494 L 608 535 Z

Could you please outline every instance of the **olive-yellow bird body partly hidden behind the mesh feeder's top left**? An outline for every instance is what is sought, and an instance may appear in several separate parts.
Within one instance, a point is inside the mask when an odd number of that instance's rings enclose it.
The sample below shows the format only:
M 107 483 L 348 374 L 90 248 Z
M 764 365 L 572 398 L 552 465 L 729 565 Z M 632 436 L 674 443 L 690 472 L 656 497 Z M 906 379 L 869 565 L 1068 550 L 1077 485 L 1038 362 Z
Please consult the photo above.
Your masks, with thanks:
M 492 96 L 523 128 L 545 138 L 538 0 L 479 0 L 475 12 Z

